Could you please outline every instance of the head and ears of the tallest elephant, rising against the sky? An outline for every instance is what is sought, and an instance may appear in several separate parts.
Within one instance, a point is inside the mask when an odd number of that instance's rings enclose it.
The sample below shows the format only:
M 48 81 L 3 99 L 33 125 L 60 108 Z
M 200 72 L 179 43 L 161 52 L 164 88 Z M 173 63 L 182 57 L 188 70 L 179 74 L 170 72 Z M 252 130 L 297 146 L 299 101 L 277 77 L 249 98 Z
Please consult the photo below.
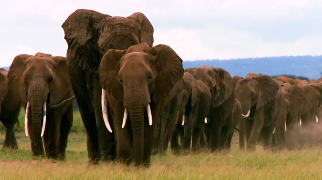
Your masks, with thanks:
M 78 9 L 62 24 L 68 44 L 69 63 L 96 72 L 108 49 L 126 49 L 131 45 L 153 45 L 153 26 L 142 13 L 128 17 L 104 15 Z

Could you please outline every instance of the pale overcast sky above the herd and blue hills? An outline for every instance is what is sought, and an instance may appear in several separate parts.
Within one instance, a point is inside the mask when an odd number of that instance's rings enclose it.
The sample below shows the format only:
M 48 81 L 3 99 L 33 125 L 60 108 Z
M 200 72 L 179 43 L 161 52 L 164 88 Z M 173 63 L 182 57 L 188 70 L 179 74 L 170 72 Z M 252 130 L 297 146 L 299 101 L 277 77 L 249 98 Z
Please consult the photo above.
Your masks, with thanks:
M 322 0 L 1 0 L 0 66 L 18 54 L 66 56 L 61 24 L 80 8 L 144 13 L 154 45 L 183 60 L 322 54 Z

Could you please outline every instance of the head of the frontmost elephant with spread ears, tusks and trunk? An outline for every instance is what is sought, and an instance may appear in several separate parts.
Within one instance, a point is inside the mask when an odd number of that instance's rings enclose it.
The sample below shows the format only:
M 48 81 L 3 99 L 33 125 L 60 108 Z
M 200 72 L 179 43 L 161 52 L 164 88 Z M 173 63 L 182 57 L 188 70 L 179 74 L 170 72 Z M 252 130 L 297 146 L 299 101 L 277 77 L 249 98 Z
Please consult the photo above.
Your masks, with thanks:
M 181 58 L 167 45 L 150 47 L 141 43 L 124 50 L 110 49 L 103 56 L 99 67 L 100 83 L 104 90 L 123 104 L 122 127 L 129 114 L 137 164 L 143 158 L 144 113 L 148 114 L 152 125 L 158 115 L 152 116 L 150 103 L 164 101 L 183 74 Z

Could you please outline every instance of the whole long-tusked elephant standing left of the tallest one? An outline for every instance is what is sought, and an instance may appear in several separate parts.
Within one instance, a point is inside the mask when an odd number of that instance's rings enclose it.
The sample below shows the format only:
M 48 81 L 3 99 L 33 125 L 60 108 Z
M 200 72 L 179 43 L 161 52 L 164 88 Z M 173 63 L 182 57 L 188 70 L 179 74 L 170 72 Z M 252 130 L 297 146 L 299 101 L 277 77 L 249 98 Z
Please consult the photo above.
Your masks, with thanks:
M 16 98 L 11 101 L 26 110 L 25 134 L 30 136 L 32 154 L 45 156 L 44 140 L 46 157 L 64 160 L 75 99 L 66 58 L 44 53 L 18 55 L 8 77 L 15 88 Z

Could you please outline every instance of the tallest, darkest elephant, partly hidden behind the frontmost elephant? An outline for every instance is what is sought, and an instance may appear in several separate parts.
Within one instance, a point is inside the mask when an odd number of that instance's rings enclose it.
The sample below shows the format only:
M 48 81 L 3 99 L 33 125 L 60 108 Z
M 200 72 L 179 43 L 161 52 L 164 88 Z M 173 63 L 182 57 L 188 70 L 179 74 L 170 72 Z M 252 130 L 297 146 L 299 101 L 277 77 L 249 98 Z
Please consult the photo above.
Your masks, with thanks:
M 116 157 L 115 137 L 107 131 L 102 116 L 102 88 L 97 73 L 103 55 L 111 48 L 153 45 L 153 26 L 142 13 L 110 16 L 78 9 L 62 24 L 68 45 L 68 69 L 79 112 L 87 132 L 90 163 Z M 110 117 L 111 118 L 111 117 Z

